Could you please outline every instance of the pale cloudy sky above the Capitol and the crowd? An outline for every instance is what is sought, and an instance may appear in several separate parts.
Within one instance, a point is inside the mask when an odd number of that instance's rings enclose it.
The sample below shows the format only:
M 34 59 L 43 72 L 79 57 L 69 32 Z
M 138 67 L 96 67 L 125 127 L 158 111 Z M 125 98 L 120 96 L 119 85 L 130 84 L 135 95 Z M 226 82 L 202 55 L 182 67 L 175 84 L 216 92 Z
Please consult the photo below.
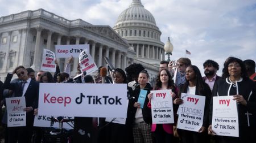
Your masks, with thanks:
M 0 0 L 0 17 L 43 8 L 68 20 L 114 27 L 132 0 Z M 207 59 L 221 66 L 226 58 L 256 60 L 255 0 L 141 0 L 162 32 L 174 45 L 171 59 L 188 57 L 203 70 Z M 185 55 L 185 50 L 191 55 Z

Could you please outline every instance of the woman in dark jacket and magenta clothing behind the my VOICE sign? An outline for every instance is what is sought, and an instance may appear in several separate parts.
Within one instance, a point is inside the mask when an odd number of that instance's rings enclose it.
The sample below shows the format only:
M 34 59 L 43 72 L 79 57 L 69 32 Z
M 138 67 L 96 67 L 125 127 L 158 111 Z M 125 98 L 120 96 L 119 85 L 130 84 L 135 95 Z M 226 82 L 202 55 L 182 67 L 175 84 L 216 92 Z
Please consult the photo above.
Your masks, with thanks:
M 163 69 L 158 73 L 156 77 L 156 84 L 153 90 L 165 90 L 172 89 L 171 96 L 174 98 L 177 93 L 177 88 L 174 85 L 171 74 L 168 70 Z M 152 93 L 148 94 L 148 99 L 152 98 Z M 148 107 L 151 108 L 151 102 L 148 102 Z M 154 136 L 157 143 L 174 142 L 173 124 L 152 124 L 151 132 L 154 132 Z

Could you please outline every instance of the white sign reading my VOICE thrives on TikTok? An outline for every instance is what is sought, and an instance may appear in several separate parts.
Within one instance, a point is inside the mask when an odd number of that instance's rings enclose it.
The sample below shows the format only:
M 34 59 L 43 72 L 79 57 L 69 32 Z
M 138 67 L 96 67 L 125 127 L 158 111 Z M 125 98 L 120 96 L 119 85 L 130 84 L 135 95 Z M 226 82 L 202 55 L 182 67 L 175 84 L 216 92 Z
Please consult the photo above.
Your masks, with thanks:
M 151 93 L 152 123 L 174 123 L 171 90 L 152 90 Z

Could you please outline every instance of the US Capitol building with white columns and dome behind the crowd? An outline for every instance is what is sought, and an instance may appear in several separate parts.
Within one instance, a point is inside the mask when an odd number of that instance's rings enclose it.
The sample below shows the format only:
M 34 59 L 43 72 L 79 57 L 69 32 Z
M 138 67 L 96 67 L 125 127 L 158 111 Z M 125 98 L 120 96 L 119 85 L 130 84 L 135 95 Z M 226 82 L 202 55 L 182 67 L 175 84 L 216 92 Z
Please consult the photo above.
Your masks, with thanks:
M 23 11 L 0 18 L 0 79 L 5 80 L 15 67 L 40 70 L 43 49 L 55 51 L 55 45 L 89 44 L 97 66 L 105 66 L 108 57 L 115 68 L 123 70 L 141 63 L 150 74 L 150 82 L 164 59 L 164 44 L 154 16 L 140 0 L 133 0 L 118 17 L 114 28 L 93 25 L 84 20 L 68 20 L 43 9 Z M 60 58 L 60 71 L 67 59 Z M 75 76 L 78 59 L 72 65 Z

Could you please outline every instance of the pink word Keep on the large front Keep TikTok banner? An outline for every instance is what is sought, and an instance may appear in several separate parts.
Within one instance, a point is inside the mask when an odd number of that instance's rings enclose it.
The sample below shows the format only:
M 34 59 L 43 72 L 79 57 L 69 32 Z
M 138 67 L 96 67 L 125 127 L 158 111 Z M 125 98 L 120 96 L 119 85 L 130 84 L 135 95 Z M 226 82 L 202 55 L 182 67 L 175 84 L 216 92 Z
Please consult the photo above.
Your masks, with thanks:
M 52 96 L 52 97 L 49 97 L 50 94 L 46 94 L 44 93 L 44 103 L 59 103 L 59 104 L 62 104 L 64 103 L 64 107 L 67 106 L 67 104 L 71 103 L 71 98 L 70 97 L 55 97 L 55 96 Z

